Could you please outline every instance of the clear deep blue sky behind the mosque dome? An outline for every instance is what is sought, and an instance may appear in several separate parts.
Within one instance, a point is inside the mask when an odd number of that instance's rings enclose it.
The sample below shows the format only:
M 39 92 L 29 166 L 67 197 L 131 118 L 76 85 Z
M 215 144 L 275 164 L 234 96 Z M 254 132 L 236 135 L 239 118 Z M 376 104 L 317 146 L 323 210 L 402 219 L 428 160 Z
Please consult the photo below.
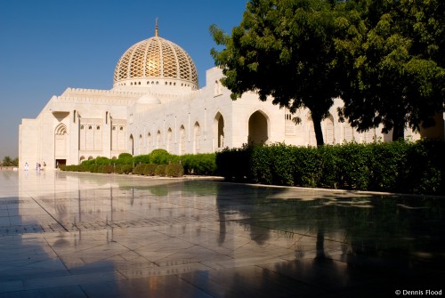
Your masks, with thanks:
M 214 66 L 208 28 L 226 32 L 247 0 L 0 0 L 0 159 L 18 157 L 21 118 L 35 118 L 68 87 L 111 89 L 117 60 L 159 36 L 180 45 L 198 68 Z

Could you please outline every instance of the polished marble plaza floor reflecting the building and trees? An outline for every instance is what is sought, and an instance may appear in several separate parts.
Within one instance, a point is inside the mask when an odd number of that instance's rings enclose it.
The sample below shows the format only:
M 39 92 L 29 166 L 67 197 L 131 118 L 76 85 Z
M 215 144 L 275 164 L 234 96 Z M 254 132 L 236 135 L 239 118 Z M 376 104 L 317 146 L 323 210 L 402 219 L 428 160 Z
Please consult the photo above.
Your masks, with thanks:
M 444 216 L 445 197 L 2 171 L 0 297 L 445 294 Z

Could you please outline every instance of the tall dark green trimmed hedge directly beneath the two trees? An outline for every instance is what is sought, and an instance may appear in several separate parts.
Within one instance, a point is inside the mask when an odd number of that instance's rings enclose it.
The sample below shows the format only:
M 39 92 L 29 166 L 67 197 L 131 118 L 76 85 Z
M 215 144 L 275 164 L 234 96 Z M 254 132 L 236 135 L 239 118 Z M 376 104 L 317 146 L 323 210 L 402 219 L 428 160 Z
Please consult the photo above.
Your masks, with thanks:
M 244 146 L 216 156 L 226 179 L 263 184 L 445 193 L 445 143 L 396 141 L 313 147 Z

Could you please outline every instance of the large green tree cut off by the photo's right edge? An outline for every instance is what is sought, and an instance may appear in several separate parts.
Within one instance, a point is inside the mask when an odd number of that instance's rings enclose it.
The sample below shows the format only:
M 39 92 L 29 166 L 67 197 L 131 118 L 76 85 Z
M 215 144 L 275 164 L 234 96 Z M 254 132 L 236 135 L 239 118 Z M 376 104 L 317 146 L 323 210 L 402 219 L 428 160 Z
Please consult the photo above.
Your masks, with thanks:
M 352 2 L 365 30 L 361 26 L 343 48 L 347 79 L 341 115 L 359 131 L 383 125 L 394 141 L 407 127 L 434 125 L 445 97 L 445 2 Z

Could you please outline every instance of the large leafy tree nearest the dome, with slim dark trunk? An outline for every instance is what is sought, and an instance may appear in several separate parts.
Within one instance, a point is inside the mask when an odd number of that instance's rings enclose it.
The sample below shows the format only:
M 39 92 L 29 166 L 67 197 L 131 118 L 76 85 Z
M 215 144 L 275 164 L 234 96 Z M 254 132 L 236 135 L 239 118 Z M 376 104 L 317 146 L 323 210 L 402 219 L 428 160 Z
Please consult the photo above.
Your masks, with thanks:
M 211 53 L 232 99 L 255 91 L 261 101 L 272 96 L 291 112 L 309 109 L 319 146 L 321 121 L 340 94 L 335 6 L 333 0 L 251 0 L 231 36 L 210 28 L 223 46 Z

